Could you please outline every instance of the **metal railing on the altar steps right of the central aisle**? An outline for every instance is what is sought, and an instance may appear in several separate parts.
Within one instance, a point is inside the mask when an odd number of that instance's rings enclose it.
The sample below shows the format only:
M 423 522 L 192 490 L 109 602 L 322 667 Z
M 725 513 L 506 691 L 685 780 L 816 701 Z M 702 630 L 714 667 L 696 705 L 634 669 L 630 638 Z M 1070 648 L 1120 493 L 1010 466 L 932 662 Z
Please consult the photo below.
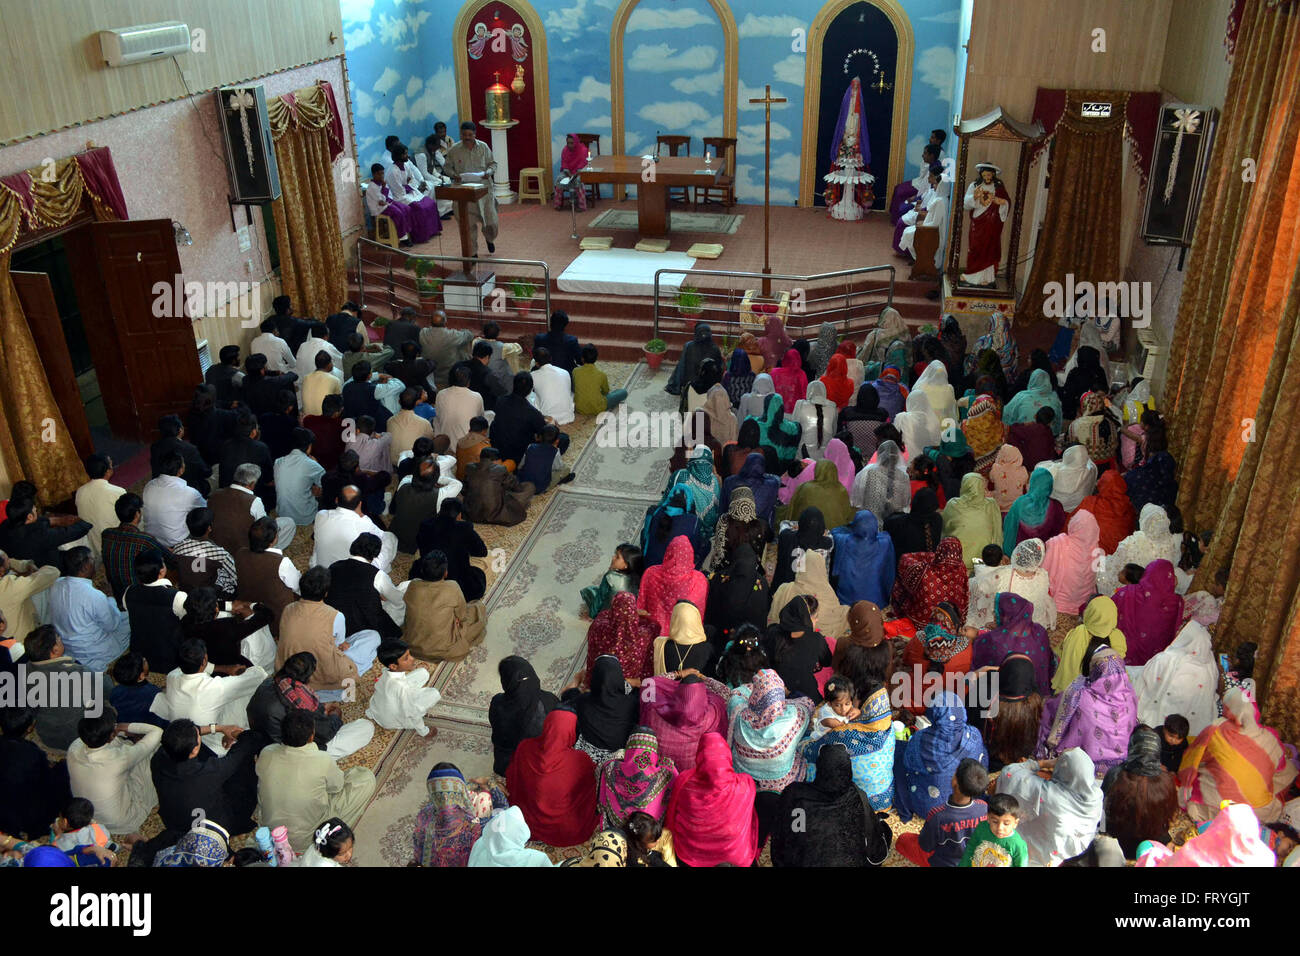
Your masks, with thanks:
M 858 285 L 862 277 L 872 274 L 884 274 L 887 278 L 879 285 L 864 287 Z M 698 310 L 690 308 L 688 315 L 682 311 L 679 298 L 680 286 L 664 287 L 662 284 L 663 276 L 682 276 L 684 280 L 715 276 L 728 280 L 744 280 L 744 282 L 738 289 L 692 287 L 689 293 L 698 297 Z M 864 265 L 857 269 L 823 272 L 815 276 L 764 276 L 758 272 L 658 269 L 654 274 L 654 338 L 663 338 L 668 334 L 689 338 L 693 334 L 694 325 L 699 321 L 708 323 L 715 334 L 719 333 L 720 326 L 722 337 L 731 338 L 732 341 L 741 332 L 753 330 L 760 333 L 754 321 L 741 321 L 741 307 L 746 291 L 760 289 L 763 280 L 772 281 L 774 295 L 779 297 L 783 291 L 790 294 L 785 328 L 794 338 L 805 338 L 810 326 L 815 330 L 822 323 L 828 321 L 837 323 L 841 334 L 874 328 L 874 323 L 868 324 L 867 320 L 879 321 L 880 313 L 893 306 L 893 265 Z M 842 282 L 842 289 L 827 286 L 827 284 L 833 282 Z M 815 284 L 823 284 L 823 287 L 814 287 Z M 671 306 L 666 307 L 666 297 L 670 298 Z M 660 319 L 676 320 L 681 324 L 681 328 L 668 328 L 660 323 Z

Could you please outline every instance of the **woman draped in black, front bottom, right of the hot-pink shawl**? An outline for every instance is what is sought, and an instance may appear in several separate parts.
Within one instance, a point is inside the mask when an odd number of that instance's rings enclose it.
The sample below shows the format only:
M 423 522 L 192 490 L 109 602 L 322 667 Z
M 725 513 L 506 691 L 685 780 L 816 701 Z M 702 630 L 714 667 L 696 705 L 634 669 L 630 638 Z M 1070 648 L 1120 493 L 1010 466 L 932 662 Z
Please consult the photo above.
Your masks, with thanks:
M 820 749 L 815 782 L 781 793 L 776 818 L 805 826 L 772 830 L 772 866 L 879 866 L 889 856 L 889 825 L 863 805 L 849 750 L 836 743 Z

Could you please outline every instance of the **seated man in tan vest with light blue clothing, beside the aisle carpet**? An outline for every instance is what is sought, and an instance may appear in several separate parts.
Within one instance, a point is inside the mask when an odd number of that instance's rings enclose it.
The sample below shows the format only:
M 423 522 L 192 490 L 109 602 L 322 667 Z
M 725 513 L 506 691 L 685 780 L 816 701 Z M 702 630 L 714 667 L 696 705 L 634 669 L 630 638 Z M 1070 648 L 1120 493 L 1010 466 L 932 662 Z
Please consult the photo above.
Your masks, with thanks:
M 376 631 L 347 633 L 342 613 L 325 604 L 329 588 L 329 568 L 312 567 L 303 575 L 302 600 L 289 605 L 281 615 L 276 667 L 283 667 L 292 654 L 311 652 L 316 672 L 309 687 L 322 701 L 341 701 L 344 689 L 355 693 L 358 679 L 374 663 L 380 635 Z

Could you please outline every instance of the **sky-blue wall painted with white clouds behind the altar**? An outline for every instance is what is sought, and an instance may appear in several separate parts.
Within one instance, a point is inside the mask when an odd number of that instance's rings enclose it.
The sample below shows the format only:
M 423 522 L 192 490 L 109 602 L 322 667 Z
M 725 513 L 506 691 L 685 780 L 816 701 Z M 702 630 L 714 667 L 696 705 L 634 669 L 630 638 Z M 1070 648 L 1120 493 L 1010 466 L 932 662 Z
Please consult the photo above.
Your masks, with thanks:
M 907 116 L 909 174 L 936 126 L 956 112 L 962 0 L 901 0 L 915 36 Z M 451 31 L 454 0 L 341 0 L 363 169 L 385 159 L 384 138 L 417 143 L 434 120 L 455 129 Z M 533 0 L 546 27 L 552 152 L 566 131 L 611 133 L 610 30 L 619 0 Z M 807 31 L 822 8 L 810 0 L 731 0 L 740 31 L 736 185 L 741 202 L 763 198 L 763 112 L 748 103 L 771 83 L 789 103 L 772 108 L 772 202 L 798 194 L 803 55 L 792 31 Z M 642 0 L 624 39 L 625 148 L 642 152 L 655 130 L 722 135 L 723 33 L 706 0 Z M 952 144 L 952 140 L 949 140 Z M 606 146 L 608 148 L 608 146 Z M 875 170 L 878 176 L 885 170 Z

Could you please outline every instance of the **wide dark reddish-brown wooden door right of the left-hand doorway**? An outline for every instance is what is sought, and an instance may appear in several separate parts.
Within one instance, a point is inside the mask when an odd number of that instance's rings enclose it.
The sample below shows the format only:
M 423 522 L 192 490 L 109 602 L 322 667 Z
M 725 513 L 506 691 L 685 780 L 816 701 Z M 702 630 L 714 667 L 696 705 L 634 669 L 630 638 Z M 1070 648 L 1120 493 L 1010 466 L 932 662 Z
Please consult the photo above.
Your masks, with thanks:
M 183 412 L 203 381 L 185 295 L 174 291 L 183 278 L 172 221 L 91 222 L 66 246 L 113 432 L 152 441 L 159 418 Z

